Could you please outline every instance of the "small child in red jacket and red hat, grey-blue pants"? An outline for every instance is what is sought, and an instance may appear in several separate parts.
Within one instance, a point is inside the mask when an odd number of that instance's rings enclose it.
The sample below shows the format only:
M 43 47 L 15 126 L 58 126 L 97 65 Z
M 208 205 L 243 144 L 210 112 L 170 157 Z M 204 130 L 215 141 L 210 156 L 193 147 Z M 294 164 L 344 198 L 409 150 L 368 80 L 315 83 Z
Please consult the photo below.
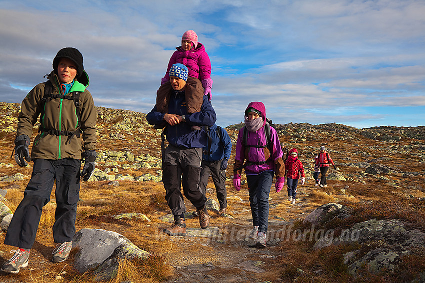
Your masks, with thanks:
M 301 177 L 301 186 L 304 185 L 305 175 L 301 161 L 297 158 L 298 151 L 295 148 L 289 150 L 289 157 L 285 162 L 286 185 L 288 187 L 288 201 L 293 205 L 296 198 L 296 187 Z

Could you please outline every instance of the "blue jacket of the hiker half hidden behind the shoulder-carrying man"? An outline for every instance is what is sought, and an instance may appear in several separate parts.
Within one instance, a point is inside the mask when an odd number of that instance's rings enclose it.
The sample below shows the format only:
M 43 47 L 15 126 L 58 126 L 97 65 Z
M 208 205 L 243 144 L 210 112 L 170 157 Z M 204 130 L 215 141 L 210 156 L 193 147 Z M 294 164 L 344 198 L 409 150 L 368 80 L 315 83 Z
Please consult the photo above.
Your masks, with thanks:
M 202 151 L 203 160 L 213 162 L 213 161 L 221 160 L 223 158 L 226 160 L 230 158 L 230 154 L 231 154 L 230 137 L 228 136 L 226 130 L 221 128 L 221 132 L 220 132 L 221 139 L 220 139 L 217 133 L 218 131 L 217 127 L 218 127 L 217 125 L 213 124 L 208 129 L 208 134 L 212 139 L 211 149 L 210 149 L 212 154 L 205 154 L 208 152 L 208 145 L 206 145 Z

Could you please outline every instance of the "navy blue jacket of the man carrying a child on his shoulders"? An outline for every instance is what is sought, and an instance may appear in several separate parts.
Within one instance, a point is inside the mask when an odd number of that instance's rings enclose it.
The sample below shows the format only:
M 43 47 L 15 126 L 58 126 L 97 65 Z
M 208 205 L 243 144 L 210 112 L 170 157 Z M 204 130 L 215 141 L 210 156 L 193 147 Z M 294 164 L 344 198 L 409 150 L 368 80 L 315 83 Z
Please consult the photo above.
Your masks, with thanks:
M 186 115 L 185 121 L 176 125 L 167 124 L 166 139 L 169 144 L 180 148 L 203 148 L 208 144 L 208 137 L 202 126 L 210 127 L 215 123 L 215 111 L 212 108 L 208 96 L 203 96 L 200 112 L 187 114 L 184 91 L 173 91 L 168 103 L 168 113 L 176 115 Z M 156 111 L 156 104 L 146 115 L 146 120 L 150 125 L 161 124 L 164 113 Z M 191 130 L 192 125 L 200 126 L 201 130 Z

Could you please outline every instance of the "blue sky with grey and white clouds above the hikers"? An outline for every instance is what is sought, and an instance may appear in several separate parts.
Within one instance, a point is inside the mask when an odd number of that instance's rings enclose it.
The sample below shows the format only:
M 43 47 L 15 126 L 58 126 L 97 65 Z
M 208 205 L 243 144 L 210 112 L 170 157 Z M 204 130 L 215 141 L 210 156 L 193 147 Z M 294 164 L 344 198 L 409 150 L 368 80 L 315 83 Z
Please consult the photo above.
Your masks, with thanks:
M 278 124 L 425 125 L 424 15 L 423 0 L 1 0 L 0 101 L 21 102 L 72 46 L 97 106 L 147 113 L 193 29 L 218 125 L 250 101 Z

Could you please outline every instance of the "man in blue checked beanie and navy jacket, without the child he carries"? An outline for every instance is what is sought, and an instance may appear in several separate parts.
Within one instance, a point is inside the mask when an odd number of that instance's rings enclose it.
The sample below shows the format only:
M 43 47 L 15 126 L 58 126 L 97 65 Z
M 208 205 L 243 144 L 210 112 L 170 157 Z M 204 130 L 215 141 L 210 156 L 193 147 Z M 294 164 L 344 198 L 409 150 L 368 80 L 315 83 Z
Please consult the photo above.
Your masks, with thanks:
M 186 222 L 184 220 L 183 196 L 180 191 L 180 182 L 184 196 L 196 208 L 199 224 L 202 229 L 208 227 L 209 216 L 206 210 L 206 198 L 198 188 L 202 148 L 208 144 L 208 137 L 203 128 L 192 131 L 191 125 L 210 127 L 215 123 L 215 111 L 211 102 L 203 96 L 200 111 L 187 114 L 185 87 L 187 68 L 182 64 L 174 64 L 170 68 L 169 79 L 172 89 L 167 100 L 167 112 L 157 110 L 157 104 L 146 115 L 150 125 L 167 123 L 167 148 L 162 153 L 162 182 L 165 188 L 165 200 L 174 221 L 171 228 L 163 230 L 171 236 L 184 236 Z

